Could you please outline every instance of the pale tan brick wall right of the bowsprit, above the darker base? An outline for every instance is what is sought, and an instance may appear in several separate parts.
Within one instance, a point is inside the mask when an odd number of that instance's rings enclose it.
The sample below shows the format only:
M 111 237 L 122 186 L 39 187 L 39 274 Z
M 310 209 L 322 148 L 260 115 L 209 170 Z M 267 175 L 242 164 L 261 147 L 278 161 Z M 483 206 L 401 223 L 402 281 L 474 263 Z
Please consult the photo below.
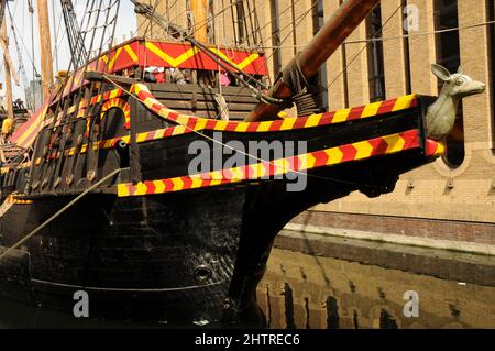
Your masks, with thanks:
M 383 21 L 389 19 L 399 2 L 398 0 L 382 1 Z M 419 32 L 413 33 L 413 36 L 409 39 L 413 92 L 436 95 L 437 79 L 430 73 L 430 64 L 437 59 L 436 37 L 431 34 L 422 34 L 435 30 L 433 1 L 409 0 L 407 3 L 415 4 L 419 9 Z M 459 25 L 461 28 L 487 21 L 486 0 L 459 0 L 458 3 Z M 395 14 L 384 28 L 383 35 L 393 37 L 400 35 L 400 32 L 399 14 Z M 354 36 L 356 35 L 359 34 L 354 34 Z M 443 160 L 438 160 L 432 165 L 404 175 L 393 194 L 377 199 L 367 199 L 361 194 L 352 194 L 348 198 L 328 205 L 320 205 L 315 210 L 331 211 L 333 213 L 495 222 L 495 189 L 493 188 L 495 156 L 492 150 L 494 111 L 491 107 L 491 91 L 493 87 L 490 79 L 488 42 L 486 26 L 460 31 L 461 65 L 463 70 L 472 76 L 473 79 L 486 83 L 488 91 L 464 100 L 466 156 L 459 168 L 450 168 Z M 400 39 L 384 41 L 385 84 L 388 98 L 405 94 L 403 45 L 404 43 Z M 349 46 L 346 45 L 346 47 Z M 330 63 L 339 61 L 340 56 L 337 56 Z M 364 72 L 362 77 L 365 77 Z M 365 84 L 363 79 L 358 79 L 358 81 Z M 366 92 L 363 92 L 360 97 L 361 91 L 365 89 L 355 88 L 355 81 L 351 86 L 354 87 L 350 90 L 353 95 L 351 102 L 355 105 L 361 100 L 366 100 Z M 340 88 L 340 86 L 336 85 L 334 88 Z M 331 108 L 343 107 L 340 102 L 341 99 L 339 99 L 340 91 L 331 91 L 329 95 Z M 453 182 L 453 189 L 447 188 L 448 182 Z M 409 183 L 413 183 L 415 187 L 409 188 Z M 469 237 L 468 233 L 466 235 Z

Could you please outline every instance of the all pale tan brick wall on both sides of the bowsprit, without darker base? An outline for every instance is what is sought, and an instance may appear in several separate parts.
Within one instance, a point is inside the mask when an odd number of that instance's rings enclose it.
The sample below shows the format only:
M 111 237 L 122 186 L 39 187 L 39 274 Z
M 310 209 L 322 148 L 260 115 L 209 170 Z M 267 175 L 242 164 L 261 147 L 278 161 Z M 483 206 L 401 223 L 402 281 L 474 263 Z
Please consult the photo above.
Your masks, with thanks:
M 254 1 L 254 0 L 253 0 Z M 465 28 L 486 22 L 488 19 L 486 4 L 490 0 L 459 0 L 459 25 Z M 178 3 L 185 3 L 179 1 Z M 228 2 L 228 1 L 226 1 Z M 213 1 L 217 9 L 226 6 L 224 1 Z M 271 12 L 270 1 L 255 1 L 258 22 L 262 26 L 264 46 L 270 58 L 268 66 L 273 74 L 273 42 L 271 21 L 275 13 Z M 407 4 L 416 6 L 419 10 L 418 32 L 411 33 L 408 40 L 410 54 L 410 86 L 413 92 L 422 95 L 437 94 L 437 79 L 430 73 L 430 65 L 437 61 L 435 31 L 435 8 L 432 0 L 408 0 Z M 165 3 L 165 2 L 164 2 Z M 339 0 L 323 0 L 324 19 L 328 20 L 339 7 Z M 293 0 L 278 0 L 278 11 L 284 12 L 279 19 L 280 39 L 285 40 L 282 47 L 282 61 L 286 64 L 294 55 L 294 48 L 301 50 L 312 36 L 311 12 L 302 17 L 310 9 L 310 0 L 300 0 L 292 9 Z M 386 95 L 393 98 L 406 92 L 405 41 L 396 37 L 403 34 L 402 9 L 397 11 L 400 0 L 383 0 L 382 20 L 388 23 L 383 29 L 384 69 Z M 170 9 L 170 18 L 177 18 L 185 24 L 184 7 Z M 286 11 L 287 10 L 287 11 Z M 162 6 L 160 11 L 166 14 Z M 298 19 L 296 23 L 296 40 L 293 31 L 293 12 Z M 233 41 L 232 18 L 230 11 L 216 18 L 216 28 L 220 31 L 222 44 Z M 302 17 L 302 18 L 301 18 Z M 141 21 L 139 22 L 141 24 Z M 227 29 L 222 30 L 222 29 Z M 155 32 L 156 33 L 156 32 Z M 141 33 L 142 34 L 142 33 Z M 395 39 L 391 39 L 395 37 Z M 359 106 L 370 101 L 370 84 L 367 72 L 367 50 L 363 48 L 366 39 L 366 28 L 363 23 L 350 36 L 348 43 L 334 53 L 323 69 L 327 70 L 329 108 L 331 110 L 350 106 Z M 355 43 L 360 42 L 361 43 Z M 463 29 L 460 31 L 461 64 L 466 74 L 474 79 L 488 85 L 484 95 L 464 100 L 464 134 L 465 160 L 458 168 L 450 168 L 442 160 L 435 164 L 416 169 L 402 177 L 393 194 L 377 199 L 367 199 L 361 194 L 316 207 L 317 211 L 342 213 L 362 213 L 375 216 L 395 216 L 441 220 L 461 220 L 473 222 L 495 222 L 495 154 L 493 152 L 493 121 L 494 111 L 491 106 L 491 86 L 488 59 L 487 26 Z M 358 55 L 359 54 L 359 55 Z M 358 56 L 356 56 L 358 55 Z M 354 59 L 354 57 L 356 57 Z M 352 62 L 353 61 L 353 62 Z M 351 63 L 352 62 L 352 63 Z M 345 69 L 346 68 L 346 69 Z M 344 72 L 344 74 L 341 74 Z M 345 91 L 345 86 L 348 91 Z M 294 111 L 292 111 L 294 113 Z M 453 182 L 452 189 L 447 184 Z M 414 184 L 414 188 L 408 184 Z

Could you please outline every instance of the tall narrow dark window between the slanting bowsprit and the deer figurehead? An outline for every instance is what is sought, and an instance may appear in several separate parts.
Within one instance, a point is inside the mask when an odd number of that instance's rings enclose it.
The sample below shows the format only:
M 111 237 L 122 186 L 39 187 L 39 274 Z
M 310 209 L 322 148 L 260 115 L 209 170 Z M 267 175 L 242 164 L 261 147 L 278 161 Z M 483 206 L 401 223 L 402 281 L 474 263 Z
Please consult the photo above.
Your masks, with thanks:
M 367 47 L 367 70 L 370 81 L 370 101 L 385 100 L 385 68 L 382 39 L 382 7 L 377 4 L 366 21 L 366 31 L 371 41 Z

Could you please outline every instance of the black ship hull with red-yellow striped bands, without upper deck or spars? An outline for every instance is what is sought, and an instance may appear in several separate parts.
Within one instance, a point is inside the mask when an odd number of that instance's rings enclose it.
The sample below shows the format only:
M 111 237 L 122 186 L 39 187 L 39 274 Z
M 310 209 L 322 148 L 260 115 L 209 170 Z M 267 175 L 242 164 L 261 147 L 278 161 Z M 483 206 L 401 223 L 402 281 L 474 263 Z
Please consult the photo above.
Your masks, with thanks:
M 160 89 L 165 88 L 155 87 L 157 96 L 168 96 Z M 129 103 L 130 125 L 114 108 L 98 127 L 95 119 L 72 116 L 70 133 L 52 117 L 29 167 L 2 175 L 2 200 L 16 191 L 20 204 L 0 216 L 0 249 L 15 244 L 95 182 L 106 182 L 2 259 L 0 296 L 70 314 L 74 293 L 85 290 L 91 317 L 262 327 L 256 285 L 276 234 L 290 219 L 355 190 L 371 197 L 389 193 L 400 174 L 438 155 L 425 136 L 429 100 L 424 98 L 286 120 L 287 128 L 282 121 L 189 118 L 177 125 L 163 118 L 164 107 L 150 91 L 140 101 L 117 92 L 125 100 L 119 103 Z M 213 142 L 218 134 L 221 141 Z M 235 182 L 224 176 L 233 174 L 226 165 L 231 154 L 220 152 L 208 175 L 222 179 L 199 180 L 194 188 L 191 175 L 198 174 L 188 167 L 196 155 L 188 149 L 196 141 L 213 154 L 232 142 L 244 150 L 253 141 L 300 141 L 306 147 L 282 156 L 255 154 Z M 262 175 L 275 175 L 272 166 L 280 160 L 306 165 L 300 191 L 287 191 L 287 177 Z M 116 169 L 118 176 L 105 178 Z

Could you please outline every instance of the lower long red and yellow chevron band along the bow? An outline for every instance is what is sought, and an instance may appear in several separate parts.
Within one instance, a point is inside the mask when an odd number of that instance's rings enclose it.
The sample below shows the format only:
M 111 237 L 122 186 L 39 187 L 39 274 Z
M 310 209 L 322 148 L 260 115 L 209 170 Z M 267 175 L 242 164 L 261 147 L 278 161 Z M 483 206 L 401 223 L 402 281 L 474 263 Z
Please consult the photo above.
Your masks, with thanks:
M 119 197 L 144 196 L 235 184 L 243 180 L 284 175 L 295 171 L 308 171 L 380 155 L 389 155 L 418 147 L 420 147 L 419 131 L 410 130 L 404 133 L 316 151 L 294 157 L 275 160 L 273 162 L 256 163 L 193 176 L 148 180 L 138 184 L 119 184 L 118 195 Z M 430 140 L 428 141 L 427 151 L 432 153 L 428 156 L 435 156 L 441 154 L 443 147 L 441 144 Z

